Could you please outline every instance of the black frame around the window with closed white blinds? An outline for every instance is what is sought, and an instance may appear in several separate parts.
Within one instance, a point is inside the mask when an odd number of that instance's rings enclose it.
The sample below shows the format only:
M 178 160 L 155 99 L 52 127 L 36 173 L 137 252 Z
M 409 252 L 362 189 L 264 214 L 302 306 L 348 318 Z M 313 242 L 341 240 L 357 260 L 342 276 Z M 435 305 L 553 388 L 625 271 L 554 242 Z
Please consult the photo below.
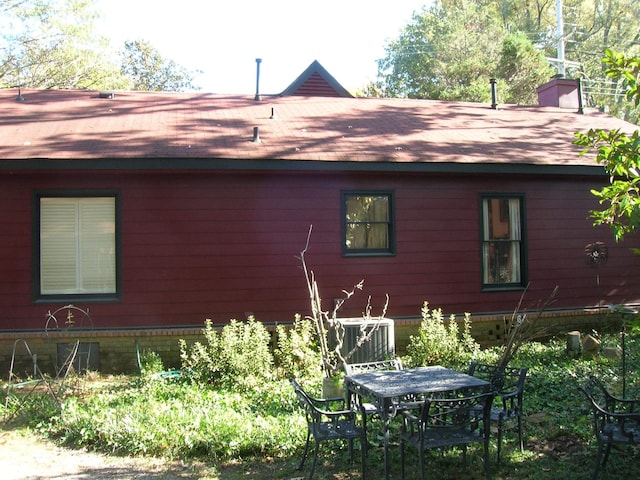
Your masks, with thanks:
M 121 198 L 118 190 L 38 190 L 33 193 L 32 205 L 32 292 L 34 303 L 59 302 L 119 302 L 122 300 L 122 235 Z M 115 292 L 43 294 L 41 290 L 40 200 L 43 198 L 98 198 L 113 197 L 115 202 Z

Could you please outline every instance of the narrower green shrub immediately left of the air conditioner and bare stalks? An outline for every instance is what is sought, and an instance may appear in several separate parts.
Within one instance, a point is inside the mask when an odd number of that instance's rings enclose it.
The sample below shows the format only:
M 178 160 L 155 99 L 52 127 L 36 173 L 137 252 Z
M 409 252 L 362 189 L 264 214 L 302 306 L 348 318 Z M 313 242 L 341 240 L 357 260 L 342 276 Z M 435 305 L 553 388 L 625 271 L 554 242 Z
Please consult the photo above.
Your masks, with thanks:
M 278 325 L 276 334 L 278 345 L 274 356 L 280 377 L 314 379 L 322 375 L 322 357 L 310 320 L 296 315 L 291 328 Z

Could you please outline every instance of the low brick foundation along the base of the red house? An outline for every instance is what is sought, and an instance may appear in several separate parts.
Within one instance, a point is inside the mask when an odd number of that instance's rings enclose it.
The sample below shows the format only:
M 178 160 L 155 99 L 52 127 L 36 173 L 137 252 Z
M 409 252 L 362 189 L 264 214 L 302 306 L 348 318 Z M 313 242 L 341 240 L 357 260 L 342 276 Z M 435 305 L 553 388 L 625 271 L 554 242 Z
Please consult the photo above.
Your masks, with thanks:
M 529 315 L 534 315 L 530 313 Z M 504 325 L 511 319 L 511 313 L 499 315 L 471 316 L 472 335 L 483 346 L 499 345 L 504 341 Z M 420 318 L 395 320 L 395 344 L 398 355 L 404 355 L 411 335 L 417 333 Z M 619 328 L 620 317 L 609 313 L 606 308 L 593 308 L 571 311 L 549 311 L 542 314 L 539 325 L 544 326 L 545 335 L 552 336 L 572 330 L 581 332 L 613 331 Z M 15 346 L 14 372 L 20 375 L 33 373 L 33 362 L 24 346 L 37 355 L 38 366 L 45 373 L 55 373 L 55 366 L 61 361 L 58 357 L 59 344 L 68 344 L 79 340 L 81 344 L 91 344 L 91 356 L 102 373 L 139 372 L 138 355 L 153 351 L 160 355 L 165 368 L 180 367 L 179 339 L 187 344 L 204 341 L 203 326 L 190 328 L 165 329 L 127 329 L 75 332 L 73 337 L 67 333 L 49 332 L 5 332 L 0 333 L 0 374 L 6 379 Z M 273 325 L 267 326 L 271 331 Z M 22 342 L 24 340 L 24 342 Z M 97 350 L 96 350 L 97 349 Z

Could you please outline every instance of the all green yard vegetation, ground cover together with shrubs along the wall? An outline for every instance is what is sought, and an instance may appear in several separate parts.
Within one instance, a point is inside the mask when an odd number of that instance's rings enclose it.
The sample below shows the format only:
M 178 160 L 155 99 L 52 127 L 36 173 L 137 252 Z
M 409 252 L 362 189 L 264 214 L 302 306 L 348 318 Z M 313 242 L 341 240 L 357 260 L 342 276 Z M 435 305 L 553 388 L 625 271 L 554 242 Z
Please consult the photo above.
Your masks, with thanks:
M 423 317 L 421 331 L 412 339 L 411 356 L 403 358 L 406 364 L 440 363 L 466 369 L 471 359 L 489 363 L 499 360 L 501 347 L 480 350 L 470 338 L 468 318 L 458 327 L 457 322 L 445 321 L 441 309 L 430 309 L 428 304 Z M 76 448 L 213 462 L 220 471 L 214 478 L 299 476 L 295 468 L 306 425 L 286 377 L 294 374 L 319 393 L 318 363 L 315 369 L 311 367 L 318 358 L 310 360 L 318 355 L 309 341 L 312 327 L 298 319 L 293 328 L 282 330 L 272 362 L 264 353 L 269 338 L 258 325 L 253 319 L 232 322 L 218 332 L 208 322 L 204 329 L 208 342 L 190 348 L 185 345 L 180 375 L 159 374 L 159 358 L 145 352 L 141 358 L 143 374 L 138 377 L 90 376 L 79 383 L 81 390 L 64 398 L 61 409 L 43 391 L 23 410 L 10 403 L 7 409 L 0 407 L 0 413 L 5 418 L 15 413 L 11 424 L 28 425 Z M 433 337 L 438 340 L 426 341 Z M 603 345 L 617 345 L 619 341 L 619 335 L 603 336 Z M 629 397 L 640 395 L 639 346 L 637 332 L 627 336 Z M 231 350 L 233 355 L 228 353 Z M 590 478 L 595 442 L 587 403 L 576 387 L 595 373 L 619 393 L 620 359 L 576 359 L 565 354 L 563 339 L 556 339 L 523 344 L 511 364 L 530 369 L 525 396 L 525 452 L 519 452 L 515 432 L 508 430 L 503 464 L 493 465 L 495 478 Z M 255 365 L 264 371 L 254 371 Z M 197 376 L 194 369 L 206 369 L 207 374 Z M 324 465 L 316 470 L 316 478 L 360 478 L 358 462 L 351 465 L 346 461 L 346 449 L 324 447 L 322 451 Z M 433 455 L 428 468 L 437 468 L 438 478 L 475 478 L 471 472 L 480 472 L 481 468 L 473 462 L 478 462 L 481 455 L 473 448 L 470 453 L 468 466 L 454 450 Z M 368 453 L 370 478 L 381 475 L 381 455 L 377 448 Z M 392 471 L 398 472 L 396 449 L 392 449 L 391 458 Z M 636 462 L 633 456 L 612 453 L 607 478 L 633 477 Z M 416 472 L 408 472 L 410 477 L 412 474 Z

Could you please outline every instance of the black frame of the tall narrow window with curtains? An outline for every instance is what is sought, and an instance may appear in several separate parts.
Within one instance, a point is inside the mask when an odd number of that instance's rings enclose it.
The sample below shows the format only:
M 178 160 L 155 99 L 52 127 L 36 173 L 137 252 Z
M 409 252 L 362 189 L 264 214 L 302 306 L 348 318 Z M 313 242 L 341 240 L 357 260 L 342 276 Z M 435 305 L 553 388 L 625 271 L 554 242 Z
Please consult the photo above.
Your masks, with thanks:
M 490 199 L 517 199 L 520 201 L 520 248 L 519 248 L 519 256 L 520 256 L 520 280 L 517 282 L 495 282 L 495 283 L 486 283 L 485 282 L 485 273 L 487 269 L 486 259 L 485 259 L 485 244 L 488 242 L 496 242 L 496 240 L 488 240 L 485 239 L 484 236 L 484 203 L 486 200 Z M 524 193 L 511 193 L 511 192 L 500 192 L 500 193 L 482 193 L 480 194 L 479 200 L 479 236 L 480 236 L 480 282 L 482 285 L 482 291 L 506 291 L 506 290 L 523 290 L 528 284 L 529 277 L 529 269 L 528 269 L 528 258 L 527 258 L 527 218 L 526 218 L 526 196 Z M 505 240 L 505 242 L 513 242 L 514 240 L 509 239 Z

